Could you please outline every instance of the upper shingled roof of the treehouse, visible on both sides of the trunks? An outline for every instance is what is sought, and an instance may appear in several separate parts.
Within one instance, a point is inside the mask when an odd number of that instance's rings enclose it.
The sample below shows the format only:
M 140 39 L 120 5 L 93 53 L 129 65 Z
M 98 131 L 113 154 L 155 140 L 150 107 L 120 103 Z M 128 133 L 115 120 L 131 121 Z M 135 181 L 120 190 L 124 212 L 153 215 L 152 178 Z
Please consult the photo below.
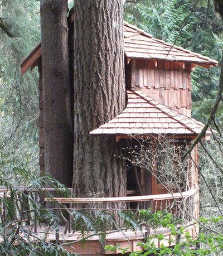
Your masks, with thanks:
M 217 65 L 217 61 L 209 57 L 168 44 L 127 22 L 124 22 L 124 51 L 128 59 L 190 62 L 205 67 Z M 38 64 L 41 54 L 41 44 L 38 44 L 20 64 L 22 75 Z

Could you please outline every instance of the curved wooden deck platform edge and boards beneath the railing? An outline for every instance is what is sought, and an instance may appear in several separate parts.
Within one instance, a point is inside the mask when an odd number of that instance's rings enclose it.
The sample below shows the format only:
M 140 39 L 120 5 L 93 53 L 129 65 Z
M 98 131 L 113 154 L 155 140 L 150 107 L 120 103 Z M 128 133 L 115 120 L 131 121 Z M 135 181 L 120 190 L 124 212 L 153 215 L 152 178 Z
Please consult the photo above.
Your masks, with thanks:
M 45 235 L 44 226 L 38 227 L 37 235 L 43 236 Z M 198 227 L 196 224 L 187 223 L 185 225 L 185 231 L 190 232 L 192 237 L 196 237 L 198 234 Z M 129 252 L 137 252 L 139 250 L 143 250 L 143 248 L 138 245 L 139 242 L 145 241 L 148 230 L 124 230 L 124 231 L 110 231 L 106 235 L 106 239 L 104 242 L 101 242 L 99 236 L 94 235 L 90 238 L 83 241 L 81 239 L 80 233 L 66 233 L 62 231 L 64 226 L 60 226 L 59 236 L 56 238 L 55 233 L 50 233 L 47 235 L 46 240 L 54 243 L 57 241 L 60 244 L 64 244 L 64 248 L 69 250 L 69 252 L 77 253 L 79 255 L 105 255 L 105 254 L 119 254 L 122 252 L 120 249 L 128 248 Z M 165 236 L 165 240 L 162 242 L 158 241 L 157 238 L 153 239 L 154 244 L 157 247 L 160 247 L 161 244 L 171 246 L 174 245 L 173 241 L 176 239 L 170 234 L 169 229 L 159 228 L 156 230 L 149 230 L 149 234 L 163 234 Z M 104 250 L 105 245 L 114 245 L 117 246 L 117 250 L 115 252 L 109 252 Z

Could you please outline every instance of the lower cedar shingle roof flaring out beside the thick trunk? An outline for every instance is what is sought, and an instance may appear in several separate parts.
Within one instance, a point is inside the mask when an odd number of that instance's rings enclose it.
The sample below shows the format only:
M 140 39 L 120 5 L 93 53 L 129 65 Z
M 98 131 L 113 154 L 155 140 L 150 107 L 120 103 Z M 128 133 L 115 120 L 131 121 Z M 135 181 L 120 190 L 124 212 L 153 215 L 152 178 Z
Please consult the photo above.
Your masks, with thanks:
M 201 122 L 172 110 L 140 90 L 127 90 L 127 95 L 128 103 L 123 112 L 90 134 L 196 135 L 203 128 Z

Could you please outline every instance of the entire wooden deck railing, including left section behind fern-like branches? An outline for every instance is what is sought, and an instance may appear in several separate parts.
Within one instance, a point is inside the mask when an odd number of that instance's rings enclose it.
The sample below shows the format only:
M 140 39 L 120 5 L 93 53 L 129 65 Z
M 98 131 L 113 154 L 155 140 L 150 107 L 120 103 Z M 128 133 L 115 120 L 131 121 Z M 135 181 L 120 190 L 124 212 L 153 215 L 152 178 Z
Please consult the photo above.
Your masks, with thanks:
M 63 215 L 62 223 L 63 233 L 74 233 L 72 229 L 72 223 L 75 218 L 72 215 L 72 211 L 83 209 L 99 209 L 110 210 L 108 205 L 117 204 L 121 205 L 123 210 L 134 210 L 150 208 L 153 212 L 158 210 L 164 210 L 171 212 L 173 216 L 183 219 L 186 223 L 190 223 L 193 217 L 196 215 L 197 209 L 197 189 L 191 189 L 185 192 L 177 192 L 173 194 L 162 195 L 146 195 L 146 196 L 126 196 L 126 197 L 88 197 L 88 198 L 76 198 L 76 197 L 43 197 L 43 192 L 54 192 L 53 188 L 42 189 L 27 189 L 25 187 L 17 187 L 18 191 L 25 192 L 31 195 L 31 199 L 37 201 L 39 204 L 53 204 L 55 211 L 66 211 Z M 70 189 L 72 191 L 72 189 Z M 129 193 L 132 194 L 132 193 Z M 6 187 L 0 187 L 1 197 L 9 196 Z M 72 196 L 72 192 L 70 192 Z M 3 200 L 2 200 L 3 201 Z M 22 202 L 22 200 L 21 200 Z M 52 203 L 53 202 L 53 203 Z M 29 205 L 29 204 L 28 204 Z M 90 206 L 89 206 L 90 205 Z M 92 208 L 91 208 L 92 207 Z M 21 209 L 24 209 L 22 207 Z M 6 214 L 6 207 L 1 205 L 1 220 L 4 221 Z M 38 224 L 36 221 L 36 212 L 32 212 L 29 215 L 28 222 L 33 226 L 35 233 L 38 233 Z M 61 230 L 56 230 L 56 240 L 59 238 Z

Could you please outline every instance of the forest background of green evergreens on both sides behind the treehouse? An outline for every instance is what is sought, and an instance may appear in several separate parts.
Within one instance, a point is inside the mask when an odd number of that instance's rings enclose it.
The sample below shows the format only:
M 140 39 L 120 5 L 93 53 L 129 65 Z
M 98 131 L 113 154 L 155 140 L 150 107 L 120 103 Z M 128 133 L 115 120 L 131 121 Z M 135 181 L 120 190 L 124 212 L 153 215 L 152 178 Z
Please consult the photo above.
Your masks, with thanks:
M 72 2 L 69 1 L 70 8 Z M 142 28 L 154 37 L 220 61 L 223 47 L 220 21 L 212 2 L 190 0 L 127 1 L 125 21 Z M 34 69 L 21 77 L 20 62 L 40 42 L 40 2 L 36 0 L 0 0 L 0 175 L 16 178 L 27 186 L 38 172 L 38 73 Z M 192 73 L 192 116 L 205 123 L 217 95 L 219 68 L 197 67 Z M 221 126 L 222 103 L 215 121 Z M 208 145 L 221 166 L 222 154 L 216 142 Z M 217 209 L 210 205 L 206 191 L 211 186 L 217 202 L 222 203 L 223 179 L 212 161 L 201 153 L 201 212 L 210 216 Z M 20 170 L 17 172 L 17 170 Z M 22 175 L 21 170 L 24 170 Z M 202 186 L 205 185 L 209 186 Z M 203 196 L 205 195 L 205 197 Z M 203 196 L 203 197 L 202 197 Z

